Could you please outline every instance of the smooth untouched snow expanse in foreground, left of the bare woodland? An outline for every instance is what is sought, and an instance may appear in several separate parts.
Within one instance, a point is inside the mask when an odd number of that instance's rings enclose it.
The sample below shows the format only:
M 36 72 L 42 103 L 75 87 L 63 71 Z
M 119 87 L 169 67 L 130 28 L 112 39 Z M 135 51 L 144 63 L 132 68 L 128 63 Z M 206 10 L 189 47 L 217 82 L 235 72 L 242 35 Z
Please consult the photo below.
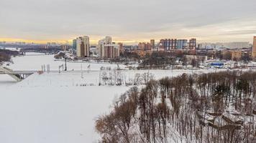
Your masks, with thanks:
M 94 122 L 127 87 L 6 87 L 0 142 L 96 142 Z

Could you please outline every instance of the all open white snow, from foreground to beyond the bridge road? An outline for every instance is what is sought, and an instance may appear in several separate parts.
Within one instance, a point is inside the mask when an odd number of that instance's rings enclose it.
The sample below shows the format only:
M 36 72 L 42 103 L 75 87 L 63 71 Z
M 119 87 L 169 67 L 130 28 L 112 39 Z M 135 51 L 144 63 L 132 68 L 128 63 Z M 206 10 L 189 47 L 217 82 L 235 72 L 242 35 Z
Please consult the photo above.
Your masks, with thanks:
M 54 61 L 52 55 L 17 56 L 9 68 L 14 70 L 39 70 L 50 64 L 58 70 L 63 61 Z M 84 63 L 83 67 L 89 64 Z M 91 70 L 116 64 L 90 64 Z M 119 65 L 120 66 L 120 65 Z M 122 65 L 124 68 L 124 65 Z M 0 142 L 3 143 L 82 143 L 97 142 L 95 119 L 110 111 L 109 105 L 129 89 L 126 86 L 98 86 L 104 71 L 83 71 L 81 64 L 68 63 L 68 70 L 32 74 L 16 83 L 8 75 L 0 75 Z M 86 69 L 83 69 L 86 70 Z M 145 70 L 118 71 L 124 81 L 135 74 L 151 73 L 155 79 L 183 73 L 202 73 L 212 70 Z M 110 71 L 106 71 L 108 74 Z M 81 86 L 91 84 L 92 86 Z

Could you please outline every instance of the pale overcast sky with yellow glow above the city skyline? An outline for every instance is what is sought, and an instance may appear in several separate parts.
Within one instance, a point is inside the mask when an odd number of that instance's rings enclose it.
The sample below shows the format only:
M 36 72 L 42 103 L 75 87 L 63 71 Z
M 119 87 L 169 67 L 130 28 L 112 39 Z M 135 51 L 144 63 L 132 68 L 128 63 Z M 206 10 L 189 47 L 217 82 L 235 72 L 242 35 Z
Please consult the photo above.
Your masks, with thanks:
M 0 41 L 250 41 L 255 0 L 0 0 Z

